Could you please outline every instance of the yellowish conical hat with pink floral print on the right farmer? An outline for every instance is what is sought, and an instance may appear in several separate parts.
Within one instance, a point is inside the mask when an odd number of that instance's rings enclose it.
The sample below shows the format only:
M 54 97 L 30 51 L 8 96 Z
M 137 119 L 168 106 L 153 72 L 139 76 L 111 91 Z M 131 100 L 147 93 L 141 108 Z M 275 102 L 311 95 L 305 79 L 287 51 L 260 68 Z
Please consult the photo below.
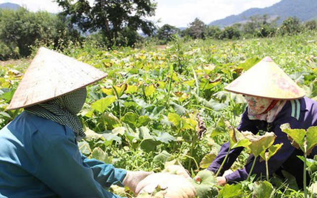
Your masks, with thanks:
M 225 90 L 268 99 L 299 99 L 305 96 L 302 90 L 284 71 L 266 56 Z

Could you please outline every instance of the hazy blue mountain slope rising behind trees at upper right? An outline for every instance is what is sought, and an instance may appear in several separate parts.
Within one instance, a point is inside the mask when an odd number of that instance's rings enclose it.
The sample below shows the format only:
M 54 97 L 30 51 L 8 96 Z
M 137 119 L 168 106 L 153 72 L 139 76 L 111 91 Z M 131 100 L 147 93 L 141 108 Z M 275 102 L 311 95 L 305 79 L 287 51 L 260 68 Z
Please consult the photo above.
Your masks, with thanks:
M 229 26 L 234 23 L 246 22 L 250 16 L 267 14 L 271 19 L 279 17 L 277 24 L 290 16 L 296 16 L 301 21 L 317 18 L 317 0 L 281 0 L 264 8 L 251 8 L 241 14 L 231 15 L 224 19 L 211 22 L 209 25 Z

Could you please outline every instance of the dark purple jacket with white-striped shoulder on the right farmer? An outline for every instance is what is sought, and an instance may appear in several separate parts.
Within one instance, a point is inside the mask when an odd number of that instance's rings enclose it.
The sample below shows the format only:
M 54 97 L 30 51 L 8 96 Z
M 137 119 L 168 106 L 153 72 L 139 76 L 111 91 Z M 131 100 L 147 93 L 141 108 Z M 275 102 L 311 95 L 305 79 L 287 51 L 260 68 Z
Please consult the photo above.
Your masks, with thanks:
M 275 153 L 268 160 L 268 171 L 269 175 L 277 171 L 278 169 L 284 169 L 291 174 L 293 174 L 298 185 L 303 184 L 303 169 L 304 163 L 301 161 L 297 155 L 303 155 L 303 152 L 299 149 L 294 148 L 291 145 L 290 140 L 287 138 L 287 134 L 282 132 L 280 126 L 284 123 L 289 123 L 292 129 L 307 129 L 311 126 L 317 125 L 317 102 L 304 97 L 302 99 L 289 100 L 286 102 L 282 110 L 275 117 L 272 123 L 267 123 L 261 120 L 250 120 L 248 118 L 248 111 L 246 110 L 238 126 L 239 131 L 250 131 L 253 134 L 257 134 L 260 130 L 274 132 L 276 139 L 274 144 L 283 143 L 282 148 Z M 218 155 L 212 161 L 208 170 L 216 172 L 220 164 L 222 163 L 225 155 L 229 149 L 229 143 L 222 145 Z M 243 148 L 232 149 L 229 153 L 226 163 L 224 164 L 220 175 L 231 167 L 233 162 L 236 160 L 238 155 L 241 153 Z M 317 154 L 317 148 L 315 148 L 311 154 L 311 157 Z M 234 182 L 242 181 L 247 179 L 248 173 L 250 172 L 254 156 L 251 155 L 247 160 L 246 165 L 243 169 L 238 169 L 233 173 L 225 176 L 229 184 Z M 258 157 L 256 164 L 254 166 L 252 174 L 257 174 L 257 176 L 265 176 L 265 161 L 260 162 L 260 157 Z

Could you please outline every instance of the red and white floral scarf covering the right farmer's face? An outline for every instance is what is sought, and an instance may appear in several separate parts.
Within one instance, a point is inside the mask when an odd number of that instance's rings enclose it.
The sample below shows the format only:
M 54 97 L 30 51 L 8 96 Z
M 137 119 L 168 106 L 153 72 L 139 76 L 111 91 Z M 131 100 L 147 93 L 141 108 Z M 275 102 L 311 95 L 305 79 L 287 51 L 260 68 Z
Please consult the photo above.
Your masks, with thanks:
M 246 96 L 248 102 L 248 117 L 250 120 L 265 120 L 273 122 L 281 111 L 286 100 L 265 99 L 261 97 Z

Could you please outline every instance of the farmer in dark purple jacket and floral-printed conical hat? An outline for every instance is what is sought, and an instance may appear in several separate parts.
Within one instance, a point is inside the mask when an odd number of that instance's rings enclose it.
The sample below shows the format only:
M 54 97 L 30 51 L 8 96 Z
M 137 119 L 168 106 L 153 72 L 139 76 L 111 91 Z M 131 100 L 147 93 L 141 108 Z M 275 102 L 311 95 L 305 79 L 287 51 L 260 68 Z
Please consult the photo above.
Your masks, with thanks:
M 245 96 L 247 109 L 242 115 L 238 126 L 239 131 L 250 131 L 257 134 L 259 131 L 274 132 L 274 144 L 283 143 L 268 161 L 269 175 L 286 170 L 296 177 L 299 187 L 303 187 L 303 162 L 297 155 L 303 155 L 300 149 L 291 145 L 287 134 L 280 126 L 289 123 L 292 129 L 307 129 L 317 125 L 317 102 L 305 96 L 305 92 L 288 77 L 269 57 L 251 67 L 240 77 L 225 87 L 225 90 Z M 229 149 L 229 143 L 222 145 L 217 157 L 208 167 L 217 172 Z M 218 184 L 232 184 L 247 179 L 251 170 L 254 156 L 250 155 L 246 165 L 228 175 L 221 176 L 228 170 L 243 148 L 234 148 L 229 152 L 228 160 L 217 177 Z M 317 154 L 317 148 L 312 156 Z M 258 177 L 265 176 L 265 161 L 256 161 L 252 174 Z M 309 182 L 307 183 L 309 184 Z

